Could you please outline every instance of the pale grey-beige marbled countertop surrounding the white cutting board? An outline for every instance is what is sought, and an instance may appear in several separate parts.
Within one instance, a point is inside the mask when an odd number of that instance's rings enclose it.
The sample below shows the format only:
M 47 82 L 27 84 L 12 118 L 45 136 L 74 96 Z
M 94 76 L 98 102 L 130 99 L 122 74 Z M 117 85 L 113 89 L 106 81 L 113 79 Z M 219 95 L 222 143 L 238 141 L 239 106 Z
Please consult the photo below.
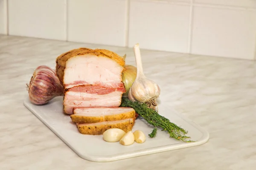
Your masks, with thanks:
M 24 105 L 36 67 L 55 67 L 73 48 L 132 48 L 0 35 L 1 170 L 253 170 L 256 167 L 256 63 L 254 61 L 141 50 L 145 75 L 160 99 L 209 132 L 207 143 L 107 163 L 81 159 Z

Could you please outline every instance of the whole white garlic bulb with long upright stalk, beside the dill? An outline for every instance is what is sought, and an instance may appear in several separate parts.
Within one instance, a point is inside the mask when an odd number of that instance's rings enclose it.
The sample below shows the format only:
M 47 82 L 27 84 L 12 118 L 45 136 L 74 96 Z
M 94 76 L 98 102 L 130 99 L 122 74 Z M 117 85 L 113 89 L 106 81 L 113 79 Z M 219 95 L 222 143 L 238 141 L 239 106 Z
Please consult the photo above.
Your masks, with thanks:
M 156 99 L 160 95 L 160 87 L 153 80 L 145 77 L 143 73 L 139 44 L 134 45 L 133 49 L 137 66 L 137 77 L 128 92 L 128 98 L 132 102 L 146 103 L 148 108 L 155 109 L 157 106 Z

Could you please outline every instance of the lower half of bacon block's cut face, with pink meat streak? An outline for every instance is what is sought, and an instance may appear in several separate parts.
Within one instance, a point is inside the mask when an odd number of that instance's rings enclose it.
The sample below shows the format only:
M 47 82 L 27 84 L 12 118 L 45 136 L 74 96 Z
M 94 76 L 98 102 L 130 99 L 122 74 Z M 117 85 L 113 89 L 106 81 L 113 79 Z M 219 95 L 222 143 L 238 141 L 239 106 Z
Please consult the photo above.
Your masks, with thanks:
M 64 96 L 64 112 L 73 114 L 73 108 L 119 107 L 125 88 L 103 88 L 99 86 L 76 86 Z

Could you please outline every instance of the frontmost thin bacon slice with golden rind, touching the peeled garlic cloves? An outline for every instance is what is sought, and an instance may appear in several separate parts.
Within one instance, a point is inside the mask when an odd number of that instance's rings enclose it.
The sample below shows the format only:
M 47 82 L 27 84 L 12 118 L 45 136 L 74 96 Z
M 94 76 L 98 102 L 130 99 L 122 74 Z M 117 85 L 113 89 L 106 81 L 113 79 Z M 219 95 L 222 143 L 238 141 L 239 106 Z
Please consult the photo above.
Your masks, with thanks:
M 128 132 L 132 130 L 134 121 L 135 117 L 111 122 L 77 124 L 77 128 L 80 133 L 88 135 L 102 135 L 106 130 L 111 128 L 119 128 Z

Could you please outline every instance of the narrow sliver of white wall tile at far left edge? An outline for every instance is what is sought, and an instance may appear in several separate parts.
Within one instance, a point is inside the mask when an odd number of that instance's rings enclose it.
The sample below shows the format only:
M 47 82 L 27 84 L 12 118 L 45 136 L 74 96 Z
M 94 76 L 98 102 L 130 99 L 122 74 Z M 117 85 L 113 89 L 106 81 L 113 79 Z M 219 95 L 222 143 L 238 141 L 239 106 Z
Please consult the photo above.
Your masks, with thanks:
M 7 34 L 7 0 L 0 0 L 0 34 Z

